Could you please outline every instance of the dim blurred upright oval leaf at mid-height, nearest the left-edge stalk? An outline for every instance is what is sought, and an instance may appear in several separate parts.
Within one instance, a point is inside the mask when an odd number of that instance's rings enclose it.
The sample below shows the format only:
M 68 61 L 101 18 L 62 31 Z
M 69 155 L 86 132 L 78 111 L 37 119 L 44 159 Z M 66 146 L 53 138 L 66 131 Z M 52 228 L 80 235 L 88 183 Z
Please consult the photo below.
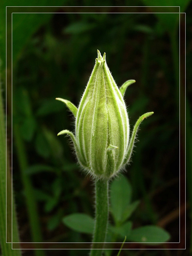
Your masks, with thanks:
M 26 119 L 24 119 L 22 125 L 20 126 L 20 133 L 24 140 L 32 140 L 36 127 L 37 124 L 33 117 L 27 117 Z

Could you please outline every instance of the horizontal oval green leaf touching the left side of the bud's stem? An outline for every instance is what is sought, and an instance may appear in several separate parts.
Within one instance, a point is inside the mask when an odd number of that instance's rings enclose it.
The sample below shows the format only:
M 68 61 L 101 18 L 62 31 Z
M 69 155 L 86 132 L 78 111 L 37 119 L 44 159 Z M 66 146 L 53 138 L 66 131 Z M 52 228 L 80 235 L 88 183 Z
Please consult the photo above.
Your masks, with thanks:
M 73 213 L 63 218 L 63 223 L 80 233 L 92 234 L 94 229 L 94 219 L 84 213 Z

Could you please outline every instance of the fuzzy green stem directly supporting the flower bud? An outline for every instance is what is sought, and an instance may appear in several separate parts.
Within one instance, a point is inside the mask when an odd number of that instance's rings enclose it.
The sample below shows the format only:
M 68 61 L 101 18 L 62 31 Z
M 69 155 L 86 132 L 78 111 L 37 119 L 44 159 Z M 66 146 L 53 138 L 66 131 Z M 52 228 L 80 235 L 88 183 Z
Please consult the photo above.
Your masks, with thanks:
M 100 256 L 103 251 L 109 215 L 108 180 L 95 181 L 95 199 L 95 227 L 90 256 Z

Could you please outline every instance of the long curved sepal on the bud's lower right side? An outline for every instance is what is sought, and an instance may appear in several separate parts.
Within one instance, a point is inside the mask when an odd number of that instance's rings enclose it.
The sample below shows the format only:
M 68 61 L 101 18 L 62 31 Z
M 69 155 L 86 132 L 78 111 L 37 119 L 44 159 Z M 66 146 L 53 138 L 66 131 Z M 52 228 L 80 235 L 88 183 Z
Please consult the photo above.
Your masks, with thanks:
M 133 151 L 133 146 L 134 146 L 134 141 L 135 141 L 135 137 L 136 137 L 136 134 L 137 134 L 137 130 L 139 128 L 139 125 L 141 124 L 141 122 L 147 118 L 148 116 L 152 115 L 154 112 L 148 112 L 148 113 L 145 113 L 143 114 L 136 122 L 135 126 L 134 126 L 134 129 L 133 129 L 133 132 L 132 132 L 132 135 L 131 135 L 131 140 L 130 140 L 130 143 L 129 143 L 129 147 L 128 147 L 128 150 L 127 150 L 127 154 L 126 154 L 126 158 L 124 160 L 124 163 L 123 164 L 126 164 L 129 162 L 130 158 L 131 158 L 131 154 L 132 154 L 132 151 Z

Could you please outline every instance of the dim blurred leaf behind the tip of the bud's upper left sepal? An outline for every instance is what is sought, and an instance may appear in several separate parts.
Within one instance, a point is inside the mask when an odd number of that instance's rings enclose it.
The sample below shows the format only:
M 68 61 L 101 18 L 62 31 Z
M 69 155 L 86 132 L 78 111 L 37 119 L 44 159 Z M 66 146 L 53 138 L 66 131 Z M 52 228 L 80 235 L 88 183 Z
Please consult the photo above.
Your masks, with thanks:
M 65 108 L 65 106 L 60 104 L 55 99 L 45 99 L 45 100 L 43 100 L 39 109 L 37 110 L 37 115 L 38 116 L 49 115 L 52 113 L 59 112 L 60 110 L 62 110 L 64 108 Z

